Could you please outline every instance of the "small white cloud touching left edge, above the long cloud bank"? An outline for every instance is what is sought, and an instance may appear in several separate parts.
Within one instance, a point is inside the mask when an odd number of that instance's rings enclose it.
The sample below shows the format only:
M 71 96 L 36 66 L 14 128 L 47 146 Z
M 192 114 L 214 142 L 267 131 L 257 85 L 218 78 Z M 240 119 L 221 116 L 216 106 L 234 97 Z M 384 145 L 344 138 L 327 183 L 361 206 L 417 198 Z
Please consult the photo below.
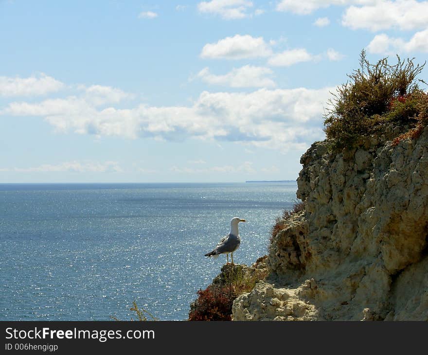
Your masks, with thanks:
M 0 76 L 0 96 L 40 96 L 63 88 L 63 83 L 44 73 L 28 78 Z

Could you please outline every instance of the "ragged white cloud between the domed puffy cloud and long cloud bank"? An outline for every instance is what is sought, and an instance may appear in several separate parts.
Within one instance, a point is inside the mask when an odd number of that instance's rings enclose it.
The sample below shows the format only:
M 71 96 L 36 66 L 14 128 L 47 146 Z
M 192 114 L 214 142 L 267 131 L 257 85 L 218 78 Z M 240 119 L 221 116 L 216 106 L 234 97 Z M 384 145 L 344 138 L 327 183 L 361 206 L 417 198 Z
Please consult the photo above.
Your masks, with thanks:
M 224 75 L 212 74 L 208 68 L 204 68 L 199 71 L 197 77 L 208 84 L 232 88 L 272 88 L 275 87 L 275 83 L 268 77 L 272 74 L 273 71 L 269 68 L 246 65 L 234 68 Z

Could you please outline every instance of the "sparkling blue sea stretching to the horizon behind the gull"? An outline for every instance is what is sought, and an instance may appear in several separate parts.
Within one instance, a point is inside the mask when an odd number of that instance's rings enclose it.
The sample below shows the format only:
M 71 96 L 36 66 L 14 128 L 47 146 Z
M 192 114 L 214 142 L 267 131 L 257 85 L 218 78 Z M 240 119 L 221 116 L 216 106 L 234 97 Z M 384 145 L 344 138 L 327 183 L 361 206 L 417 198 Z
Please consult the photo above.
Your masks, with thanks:
M 0 320 L 186 320 L 226 263 L 204 257 L 239 224 L 235 264 L 267 253 L 295 182 L 0 184 Z M 149 317 L 149 319 L 151 319 Z

